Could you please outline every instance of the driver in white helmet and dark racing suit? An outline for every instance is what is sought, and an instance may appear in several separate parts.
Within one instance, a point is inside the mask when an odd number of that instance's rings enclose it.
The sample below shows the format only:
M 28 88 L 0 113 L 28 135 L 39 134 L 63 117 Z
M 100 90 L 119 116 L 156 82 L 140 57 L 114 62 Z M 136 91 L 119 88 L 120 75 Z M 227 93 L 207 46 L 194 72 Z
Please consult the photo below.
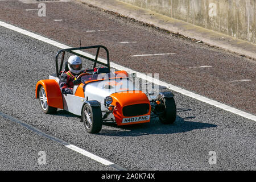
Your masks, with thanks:
M 74 85 L 78 85 L 81 82 L 81 78 L 76 79 L 81 73 L 82 60 L 78 56 L 70 56 L 68 59 L 69 71 L 65 72 L 60 77 L 60 90 L 63 94 L 73 94 Z

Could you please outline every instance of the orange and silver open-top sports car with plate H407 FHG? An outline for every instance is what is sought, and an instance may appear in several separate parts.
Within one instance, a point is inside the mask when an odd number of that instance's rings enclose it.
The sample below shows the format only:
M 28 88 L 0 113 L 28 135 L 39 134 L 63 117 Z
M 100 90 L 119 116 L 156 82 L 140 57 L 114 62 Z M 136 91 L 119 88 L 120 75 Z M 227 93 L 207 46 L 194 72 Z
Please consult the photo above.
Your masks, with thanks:
M 81 49 L 97 49 L 92 57 Z M 98 59 L 100 49 L 106 51 L 107 60 Z M 59 55 L 62 53 L 59 68 Z M 77 78 L 81 83 L 73 87 L 73 94 L 62 94 L 59 86 L 61 74 L 68 72 L 65 53 L 92 61 L 92 69 L 86 69 Z M 96 68 L 96 64 L 104 67 Z M 150 122 L 158 117 L 164 124 L 176 119 L 174 94 L 171 92 L 144 93 L 135 86 L 135 74 L 126 71 L 110 71 L 109 51 L 104 46 L 68 48 L 60 50 L 55 59 L 56 74 L 36 84 L 36 98 L 44 113 L 64 109 L 81 117 L 88 133 L 101 131 L 102 123 L 115 122 L 118 126 Z M 64 68 L 63 68 L 64 65 Z

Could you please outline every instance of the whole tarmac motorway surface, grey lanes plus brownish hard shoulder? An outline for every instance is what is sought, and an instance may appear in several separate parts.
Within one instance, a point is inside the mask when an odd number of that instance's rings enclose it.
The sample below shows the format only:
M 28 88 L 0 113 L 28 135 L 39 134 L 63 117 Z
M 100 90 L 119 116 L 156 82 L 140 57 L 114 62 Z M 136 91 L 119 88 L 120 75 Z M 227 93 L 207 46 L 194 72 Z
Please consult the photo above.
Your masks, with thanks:
M 0 1 L 0 20 L 68 46 L 102 44 L 110 60 L 224 104 L 255 114 L 255 61 L 196 44 L 118 15 L 75 2 L 36 4 Z M 49 6 L 51 4 L 51 6 Z M 65 12 L 65 14 L 64 14 Z M 36 82 L 55 73 L 60 49 L 0 26 L 0 169 L 112 170 L 15 121 L 100 156 L 127 170 L 255 170 L 255 129 L 250 119 L 176 93 L 177 119 L 141 125 L 104 125 L 88 134 L 66 111 L 43 114 Z M 175 53 L 170 55 L 134 56 Z M 209 65 L 211 67 L 200 67 Z M 198 67 L 200 67 L 198 69 Z M 203 68 L 203 69 L 201 69 Z M 241 79 L 245 82 L 230 82 Z M 4 116 L 9 115 L 8 119 Z M 46 162 L 39 162 L 43 151 Z M 209 163 L 210 151 L 216 163 Z

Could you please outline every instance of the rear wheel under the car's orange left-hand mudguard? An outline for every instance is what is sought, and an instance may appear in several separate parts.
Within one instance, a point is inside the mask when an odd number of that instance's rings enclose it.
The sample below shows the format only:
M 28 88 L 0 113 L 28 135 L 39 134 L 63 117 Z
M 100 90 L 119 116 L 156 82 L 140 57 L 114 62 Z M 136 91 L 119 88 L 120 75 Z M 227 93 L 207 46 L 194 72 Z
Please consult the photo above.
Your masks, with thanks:
M 41 109 L 46 114 L 52 114 L 57 111 L 57 108 L 51 107 L 48 105 L 48 101 L 47 101 L 47 97 L 46 97 L 46 90 L 44 89 L 43 86 L 41 86 L 41 88 L 39 90 L 39 103 L 40 103 Z

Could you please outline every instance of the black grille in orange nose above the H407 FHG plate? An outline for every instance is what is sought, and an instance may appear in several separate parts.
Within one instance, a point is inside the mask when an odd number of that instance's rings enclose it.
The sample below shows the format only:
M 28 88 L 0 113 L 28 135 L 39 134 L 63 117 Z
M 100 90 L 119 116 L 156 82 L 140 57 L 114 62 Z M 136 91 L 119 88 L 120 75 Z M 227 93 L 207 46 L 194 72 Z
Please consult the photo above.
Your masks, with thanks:
M 123 115 L 125 117 L 147 114 L 148 111 L 149 104 L 134 104 L 123 107 Z

